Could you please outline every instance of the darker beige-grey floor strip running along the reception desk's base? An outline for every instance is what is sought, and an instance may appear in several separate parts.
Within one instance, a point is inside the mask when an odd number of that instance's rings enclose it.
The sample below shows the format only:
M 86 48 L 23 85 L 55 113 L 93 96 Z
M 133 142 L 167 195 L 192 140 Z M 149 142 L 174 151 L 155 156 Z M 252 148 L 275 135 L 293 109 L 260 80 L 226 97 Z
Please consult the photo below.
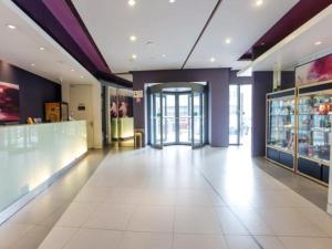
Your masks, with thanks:
M 108 152 L 90 151 L 64 177 L 0 226 L 0 249 L 37 249 Z

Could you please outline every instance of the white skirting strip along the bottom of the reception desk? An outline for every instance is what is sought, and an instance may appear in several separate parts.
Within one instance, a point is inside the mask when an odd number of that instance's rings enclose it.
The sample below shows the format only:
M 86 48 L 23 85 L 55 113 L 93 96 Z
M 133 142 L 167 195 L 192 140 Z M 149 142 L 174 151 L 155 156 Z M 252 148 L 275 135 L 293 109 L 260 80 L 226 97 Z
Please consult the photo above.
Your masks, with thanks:
M 63 175 L 65 175 L 75 164 L 77 164 L 81 159 L 83 159 L 86 156 L 86 154 L 87 154 L 87 152 L 85 152 L 82 156 L 75 158 L 72 163 L 70 163 L 68 166 L 63 167 L 61 170 L 55 173 L 43 184 L 39 185 L 35 189 L 33 189 L 29 194 L 24 195 L 23 197 L 18 199 L 15 203 L 10 205 L 8 208 L 6 208 L 3 211 L 1 211 L 0 212 L 0 225 L 3 224 L 4 221 L 7 221 L 11 216 L 17 214 L 21 208 L 23 208 L 34 197 L 37 197 L 42 191 L 44 191 L 48 187 L 50 187 L 59 178 L 61 178 Z

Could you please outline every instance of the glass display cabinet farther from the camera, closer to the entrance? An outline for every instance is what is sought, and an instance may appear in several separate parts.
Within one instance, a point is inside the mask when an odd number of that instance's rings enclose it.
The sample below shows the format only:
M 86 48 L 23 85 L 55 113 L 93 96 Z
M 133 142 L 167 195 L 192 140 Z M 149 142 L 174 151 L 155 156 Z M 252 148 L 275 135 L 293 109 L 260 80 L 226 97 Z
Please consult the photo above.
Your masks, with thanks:
M 294 170 L 295 90 L 267 94 L 267 158 Z

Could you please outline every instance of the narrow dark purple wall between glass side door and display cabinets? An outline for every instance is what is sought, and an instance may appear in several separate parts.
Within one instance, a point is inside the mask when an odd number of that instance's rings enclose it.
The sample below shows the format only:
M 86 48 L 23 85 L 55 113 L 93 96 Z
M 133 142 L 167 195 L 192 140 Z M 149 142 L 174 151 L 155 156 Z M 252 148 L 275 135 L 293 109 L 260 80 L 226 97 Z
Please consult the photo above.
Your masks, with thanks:
M 266 95 L 273 87 L 273 72 L 253 72 L 252 156 L 266 155 Z

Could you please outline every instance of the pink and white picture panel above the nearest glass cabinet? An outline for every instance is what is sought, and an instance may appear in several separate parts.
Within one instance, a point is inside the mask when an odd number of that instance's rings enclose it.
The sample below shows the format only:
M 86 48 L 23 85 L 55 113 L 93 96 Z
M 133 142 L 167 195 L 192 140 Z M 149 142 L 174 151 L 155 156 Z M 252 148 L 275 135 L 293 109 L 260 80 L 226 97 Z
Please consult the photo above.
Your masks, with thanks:
M 332 81 L 332 54 L 295 69 L 295 85 Z

